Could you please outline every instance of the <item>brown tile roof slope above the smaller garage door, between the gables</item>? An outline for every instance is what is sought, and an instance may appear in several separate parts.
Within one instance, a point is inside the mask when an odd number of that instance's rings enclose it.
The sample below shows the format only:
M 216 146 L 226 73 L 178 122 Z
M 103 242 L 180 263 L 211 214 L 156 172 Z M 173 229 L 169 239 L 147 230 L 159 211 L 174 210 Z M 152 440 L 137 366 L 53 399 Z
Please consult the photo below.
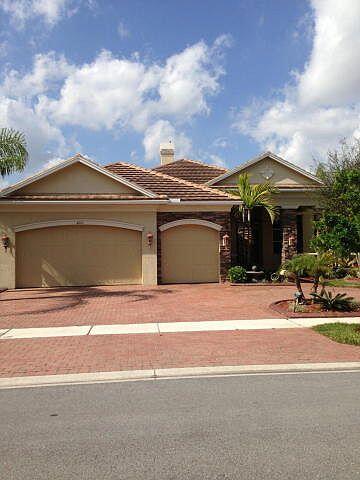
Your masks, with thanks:
M 129 163 L 113 163 L 107 165 L 110 172 L 116 173 L 137 185 L 150 190 L 156 195 L 166 195 L 168 198 L 180 198 L 187 201 L 229 201 L 237 198 L 220 190 L 188 182 L 180 178 L 166 175 L 157 170 L 150 170 Z

